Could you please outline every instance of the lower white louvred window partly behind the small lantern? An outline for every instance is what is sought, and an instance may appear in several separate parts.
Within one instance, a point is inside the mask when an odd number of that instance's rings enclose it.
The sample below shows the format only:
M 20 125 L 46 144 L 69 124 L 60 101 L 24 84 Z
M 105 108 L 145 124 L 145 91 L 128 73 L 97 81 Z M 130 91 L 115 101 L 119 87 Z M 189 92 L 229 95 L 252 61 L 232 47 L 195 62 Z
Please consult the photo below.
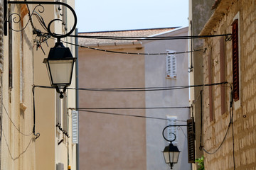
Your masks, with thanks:
M 177 118 L 174 116 L 166 116 L 167 118 L 167 125 L 177 125 Z M 167 128 L 167 140 L 174 140 L 176 135 L 176 140 L 174 142 L 172 142 L 174 145 L 177 144 L 178 142 L 178 137 L 177 137 L 177 127 L 176 126 L 171 126 L 169 128 Z

